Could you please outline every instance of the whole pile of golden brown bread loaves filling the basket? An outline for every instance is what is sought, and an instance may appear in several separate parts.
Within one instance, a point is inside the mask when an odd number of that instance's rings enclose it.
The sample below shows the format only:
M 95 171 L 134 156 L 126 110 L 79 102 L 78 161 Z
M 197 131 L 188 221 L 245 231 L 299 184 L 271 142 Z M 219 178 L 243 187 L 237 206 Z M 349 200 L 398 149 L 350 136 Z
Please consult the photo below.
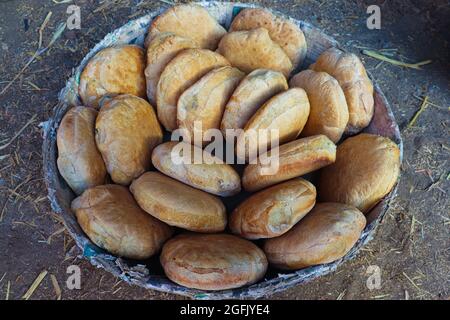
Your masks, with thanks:
M 162 250 L 172 281 L 204 290 L 255 283 L 269 263 L 292 270 L 343 257 L 394 187 L 399 148 L 358 134 L 374 113 L 358 57 L 331 48 L 292 75 L 306 46 L 297 25 L 268 10 L 242 10 L 227 32 L 185 4 L 152 22 L 145 49 L 98 52 L 80 76 L 83 106 L 57 132 L 59 172 L 92 242 L 137 260 Z M 195 121 L 202 130 L 242 129 L 238 140 L 279 130 L 278 171 L 263 174 L 256 161 L 241 177 L 201 150 L 207 141 L 189 147 L 214 164 L 174 163 L 171 152 L 187 142 L 163 142 L 164 129 L 194 135 Z M 254 146 L 242 145 L 248 163 Z M 316 191 L 300 176 L 318 169 Z M 222 198 L 241 193 L 241 178 L 252 194 L 227 215 Z

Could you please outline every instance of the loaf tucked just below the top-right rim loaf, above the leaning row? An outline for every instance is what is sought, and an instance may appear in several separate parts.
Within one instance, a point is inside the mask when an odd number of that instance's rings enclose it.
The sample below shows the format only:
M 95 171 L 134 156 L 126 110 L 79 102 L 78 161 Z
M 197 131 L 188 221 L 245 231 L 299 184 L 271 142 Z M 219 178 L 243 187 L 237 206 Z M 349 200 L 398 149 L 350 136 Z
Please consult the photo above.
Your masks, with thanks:
M 249 73 L 255 69 L 271 69 L 288 76 L 292 63 L 283 49 L 270 39 L 267 29 L 235 31 L 220 40 L 217 49 L 231 65 Z

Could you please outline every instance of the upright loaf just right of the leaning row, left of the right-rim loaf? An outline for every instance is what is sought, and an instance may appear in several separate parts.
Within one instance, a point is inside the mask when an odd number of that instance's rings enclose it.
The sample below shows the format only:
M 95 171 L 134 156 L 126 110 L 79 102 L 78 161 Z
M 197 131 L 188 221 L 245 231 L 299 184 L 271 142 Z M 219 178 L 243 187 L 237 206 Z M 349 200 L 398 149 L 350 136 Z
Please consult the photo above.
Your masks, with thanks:
M 325 72 L 305 70 L 297 73 L 289 85 L 305 89 L 311 105 L 302 136 L 324 134 L 338 142 L 348 123 L 348 107 L 337 80 Z

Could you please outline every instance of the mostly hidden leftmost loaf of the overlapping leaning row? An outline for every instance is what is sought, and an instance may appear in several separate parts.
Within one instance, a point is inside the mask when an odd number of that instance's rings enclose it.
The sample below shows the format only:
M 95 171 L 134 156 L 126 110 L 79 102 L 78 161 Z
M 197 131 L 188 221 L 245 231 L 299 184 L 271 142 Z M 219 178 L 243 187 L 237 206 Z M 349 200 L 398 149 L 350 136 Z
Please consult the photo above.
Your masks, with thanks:
M 147 97 L 152 105 L 156 105 L 156 87 L 159 77 L 169 61 L 181 50 L 196 47 L 197 45 L 192 39 L 171 32 L 160 33 L 150 41 L 147 48 L 145 79 L 147 81 Z

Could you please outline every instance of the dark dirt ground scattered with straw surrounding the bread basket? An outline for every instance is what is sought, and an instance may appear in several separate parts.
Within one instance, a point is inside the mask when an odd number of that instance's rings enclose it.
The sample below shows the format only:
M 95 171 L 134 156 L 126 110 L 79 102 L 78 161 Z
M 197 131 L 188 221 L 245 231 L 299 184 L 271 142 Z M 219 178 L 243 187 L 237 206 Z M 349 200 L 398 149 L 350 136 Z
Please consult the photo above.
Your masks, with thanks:
M 60 3 L 57 2 L 66 2 Z M 243 1 L 245 2 L 245 1 Z M 336 272 L 271 299 L 448 299 L 450 296 L 450 135 L 448 1 L 261 1 L 335 37 L 364 60 L 393 108 L 404 139 L 399 192 L 375 239 Z M 369 4 L 381 8 L 381 30 L 366 27 Z M 46 46 L 68 5 L 81 7 L 81 30 L 66 30 L 45 54 L 17 75 L 35 52 L 38 30 L 52 15 Z M 107 33 L 167 1 L 0 0 L 0 298 L 21 299 L 42 271 L 31 299 L 177 299 L 118 281 L 80 258 L 46 198 L 42 133 L 72 68 Z M 421 70 L 380 62 L 364 48 L 397 60 L 432 60 Z M 428 104 L 409 125 L 424 97 Z M 21 130 L 23 129 L 23 130 Z M 4 147 L 6 146 L 6 147 Z M 81 289 L 66 287 L 69 265 L 81 268 Z M 367 268 L 381 270 L 369 290 Z

